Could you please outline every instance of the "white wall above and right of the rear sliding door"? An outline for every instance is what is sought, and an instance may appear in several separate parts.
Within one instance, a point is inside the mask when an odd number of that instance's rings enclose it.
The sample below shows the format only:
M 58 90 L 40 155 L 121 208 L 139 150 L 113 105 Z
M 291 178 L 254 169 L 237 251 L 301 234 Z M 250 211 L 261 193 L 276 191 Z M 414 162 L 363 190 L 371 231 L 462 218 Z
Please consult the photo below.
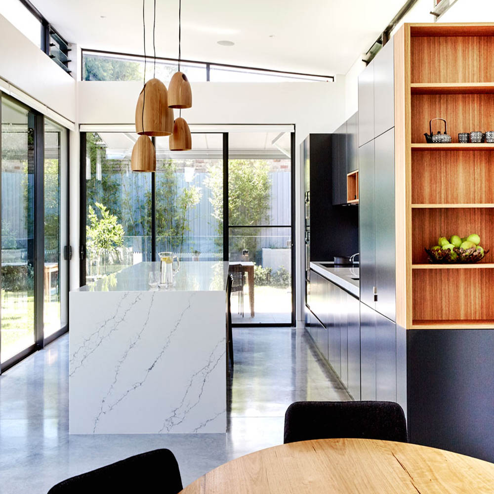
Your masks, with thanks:
M 140 82 L 78 83 L 80 124 L 132 124 Z M 303 319 L 303 170 L 300 143 L 309 133 L 332 132 L 344 121 L 344 78 L 335 82 L 194 82 L 189 124 L 295 124 L 296 315 Z M 72 209 L 71 209 L 72 210 Z

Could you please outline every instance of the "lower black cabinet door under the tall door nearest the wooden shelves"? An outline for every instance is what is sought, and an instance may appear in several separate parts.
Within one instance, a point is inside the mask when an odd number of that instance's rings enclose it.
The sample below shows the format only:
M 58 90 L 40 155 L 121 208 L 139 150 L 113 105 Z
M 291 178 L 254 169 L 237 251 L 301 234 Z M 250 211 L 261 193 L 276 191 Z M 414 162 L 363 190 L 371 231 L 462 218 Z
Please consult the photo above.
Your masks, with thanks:
M 375 314 L 375 399 L 396 401 L 396 323 Z

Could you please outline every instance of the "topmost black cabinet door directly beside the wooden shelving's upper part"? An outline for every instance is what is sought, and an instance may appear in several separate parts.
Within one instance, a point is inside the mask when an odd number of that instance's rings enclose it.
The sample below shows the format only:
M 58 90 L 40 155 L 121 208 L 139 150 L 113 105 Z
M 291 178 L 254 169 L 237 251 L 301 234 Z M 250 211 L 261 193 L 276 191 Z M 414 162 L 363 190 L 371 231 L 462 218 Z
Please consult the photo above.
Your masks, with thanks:
M 374 60 L 374 137 L 395 125 L 394 39 L 391 38 Z

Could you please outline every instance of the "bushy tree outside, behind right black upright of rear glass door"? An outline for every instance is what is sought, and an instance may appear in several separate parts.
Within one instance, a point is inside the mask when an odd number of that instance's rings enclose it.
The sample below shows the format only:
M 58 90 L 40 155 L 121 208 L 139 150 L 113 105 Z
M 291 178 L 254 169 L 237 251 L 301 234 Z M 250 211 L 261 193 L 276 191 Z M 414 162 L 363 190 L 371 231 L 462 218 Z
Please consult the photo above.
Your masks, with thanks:
M 213 217 L 218 220 L 217 233 L 221 243 L 223 235 L 223 170 L 219 166 L 208 168 L 206 187 L 211 190 L 209 199 Z M 228 216 L 230 225 L 262 225 L 268 221 L 271 179 L 269 165 L 263 160 L 229 160 L 228 162 Z M 248 249 L 250 258 L 257 252 L 257 235 L 260 228 L 233 230 L 230 252 L 241 253 Z

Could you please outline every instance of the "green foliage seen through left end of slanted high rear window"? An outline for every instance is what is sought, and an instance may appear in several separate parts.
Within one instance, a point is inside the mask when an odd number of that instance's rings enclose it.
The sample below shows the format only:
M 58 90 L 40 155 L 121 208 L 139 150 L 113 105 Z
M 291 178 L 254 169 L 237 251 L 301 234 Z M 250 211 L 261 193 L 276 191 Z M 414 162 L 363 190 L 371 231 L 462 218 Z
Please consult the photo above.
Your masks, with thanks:
M 84 81 L 141 81 L 139 62 L 84 55 Z

